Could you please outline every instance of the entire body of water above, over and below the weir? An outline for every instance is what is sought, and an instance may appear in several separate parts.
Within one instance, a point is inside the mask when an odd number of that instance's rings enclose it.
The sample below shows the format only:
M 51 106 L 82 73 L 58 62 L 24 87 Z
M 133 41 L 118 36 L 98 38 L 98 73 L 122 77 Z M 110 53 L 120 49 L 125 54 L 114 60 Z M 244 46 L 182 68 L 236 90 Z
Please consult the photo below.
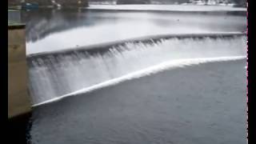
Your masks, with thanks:
M 31 143 L 246 143 L 246 11 L 97 7 L 22 11 Z

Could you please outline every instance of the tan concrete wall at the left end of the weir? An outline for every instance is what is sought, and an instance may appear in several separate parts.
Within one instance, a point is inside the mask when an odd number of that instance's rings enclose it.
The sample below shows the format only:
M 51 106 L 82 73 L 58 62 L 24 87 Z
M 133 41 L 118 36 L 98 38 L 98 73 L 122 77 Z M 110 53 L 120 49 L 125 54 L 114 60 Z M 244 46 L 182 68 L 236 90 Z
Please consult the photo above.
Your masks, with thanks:
M 25 25 L 8 25 L 8 118 L 29 113 Z

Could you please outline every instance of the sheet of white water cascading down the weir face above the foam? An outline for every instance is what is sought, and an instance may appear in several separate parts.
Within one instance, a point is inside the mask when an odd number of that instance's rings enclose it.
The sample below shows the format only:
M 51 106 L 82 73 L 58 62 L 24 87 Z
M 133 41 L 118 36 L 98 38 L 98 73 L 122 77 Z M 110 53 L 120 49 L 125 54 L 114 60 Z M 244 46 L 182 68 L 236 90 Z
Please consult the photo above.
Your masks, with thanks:
M 246 36 L 159 38 L 28 57 L 34 105 L 161 62 L 246 56 Z

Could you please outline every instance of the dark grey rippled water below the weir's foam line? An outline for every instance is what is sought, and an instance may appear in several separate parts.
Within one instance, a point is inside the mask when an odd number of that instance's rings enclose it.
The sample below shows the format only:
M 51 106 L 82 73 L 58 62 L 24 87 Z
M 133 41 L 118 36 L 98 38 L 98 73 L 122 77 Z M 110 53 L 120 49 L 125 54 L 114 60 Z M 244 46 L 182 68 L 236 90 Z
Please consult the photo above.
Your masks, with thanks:
M 245 62 L 166 70 L 35 107 L 30 140 L 246 144 Z

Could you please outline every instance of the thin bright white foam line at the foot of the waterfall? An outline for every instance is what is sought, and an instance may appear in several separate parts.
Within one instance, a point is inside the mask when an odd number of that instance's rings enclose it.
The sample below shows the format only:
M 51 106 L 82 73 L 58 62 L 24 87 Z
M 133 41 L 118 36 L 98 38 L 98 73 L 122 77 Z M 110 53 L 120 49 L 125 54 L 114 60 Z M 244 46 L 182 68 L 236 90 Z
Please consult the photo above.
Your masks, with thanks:
M 82 90 L 76 90 L 72 93 L 64 94 L 62 96 L 59 96 L 58 98 L 51 98 L 44 102 L 34 104 L 33 107 L 41 106 L 43 104 L 50 103 L 50 102 L 56 102 L 56 101 L 61 100 L 62 98 L 74 96 L 77 94 L 85 94 L 85 93 L 88 93 L 93 90 L 101 89 L 103 87 L 114 86 L 120 82 L 125 82 L 127 80 L 131 80 L 134 78 L 141 78 L 141 77 L 144 77 L 144 76 L 150 75 L 150 74 L 156 74 L 163 70 L 169 70 L 172 68 L 178 68 L 178 67 L 184 67 L 184 66 L 193 66 L 193 65 L 198 65 L 198 64 L 207 63 L 207 62 L 226 62 L 226 61 L 235 61 L 235 60 L 241 60 L 241 59 L 246 59 L 246 56 L 232 56 L 232 57 L 218 57 L 218 58 L 186 58 L 186 59 L 178 59 L 178 60 L 162 62 L 158 65 L 150 66 L 146 69 L 138 70 L 138 71 L 132 72 L 130 74 L 123 75 L 119 78 L 113 78 L 106 82 L 101 82 L 94 86 L 86 87 Z

